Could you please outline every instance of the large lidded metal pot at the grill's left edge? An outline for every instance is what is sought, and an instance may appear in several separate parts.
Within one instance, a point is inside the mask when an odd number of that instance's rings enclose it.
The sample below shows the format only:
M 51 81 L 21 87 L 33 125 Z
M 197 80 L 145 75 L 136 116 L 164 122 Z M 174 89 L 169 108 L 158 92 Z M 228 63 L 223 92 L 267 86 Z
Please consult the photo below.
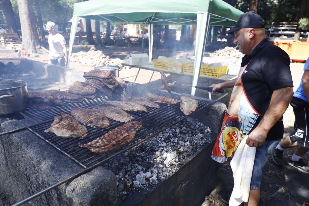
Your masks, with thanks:
M 0 116 L 23 111 L 27 106 L 27 82 L 0 78 Z

